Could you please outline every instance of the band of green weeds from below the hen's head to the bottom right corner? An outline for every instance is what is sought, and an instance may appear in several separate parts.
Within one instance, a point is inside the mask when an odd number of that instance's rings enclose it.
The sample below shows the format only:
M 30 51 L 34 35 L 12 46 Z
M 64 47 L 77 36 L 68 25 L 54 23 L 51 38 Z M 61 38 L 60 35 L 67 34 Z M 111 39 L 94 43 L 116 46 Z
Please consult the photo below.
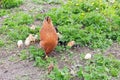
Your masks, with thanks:
M 59 49 L 58 49 L 59 51 Z M 43 59 L 44 51 L 34 46 L 30 46 L 29 52 L 35 60 L 34 65 L 41 68 L 47 68 L 51 62 L 54 62 L 53 71 L 47 75 L 51 80 L 70 80 L 72 76 L 67 67 L 58 68 L 56 60 L 49 57 L 47 60 Z M 74 54 L 74 53 L 73 53 Z M 63 55 L 64 56 L 64 55 Z M 80 56 L 81 57 L 81 56 Z M 84 55 L 82 55 L 84 57 Z M 62 57 L 61 57 L 62 58 Z M 104 56 L 103 54 L 94 54 L 90 60 L 82 60 L 84 66 L 79 67 L 77 78 L 84 80 L 111 80 L 111 78 L 119 79 L 120 75 L 120 60 L 114 56 Z

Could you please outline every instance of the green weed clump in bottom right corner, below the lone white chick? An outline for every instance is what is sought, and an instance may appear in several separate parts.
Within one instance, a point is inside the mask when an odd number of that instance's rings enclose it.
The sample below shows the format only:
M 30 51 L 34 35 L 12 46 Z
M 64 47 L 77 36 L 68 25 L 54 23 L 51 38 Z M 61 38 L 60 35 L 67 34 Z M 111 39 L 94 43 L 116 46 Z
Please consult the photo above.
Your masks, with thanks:
M 95 54 L 93 59 L 86 61 L 84 68 L 80 68 L 78 76 L 85 80 L 109 80 L 111 77 L 119 76 L 120 61 Z

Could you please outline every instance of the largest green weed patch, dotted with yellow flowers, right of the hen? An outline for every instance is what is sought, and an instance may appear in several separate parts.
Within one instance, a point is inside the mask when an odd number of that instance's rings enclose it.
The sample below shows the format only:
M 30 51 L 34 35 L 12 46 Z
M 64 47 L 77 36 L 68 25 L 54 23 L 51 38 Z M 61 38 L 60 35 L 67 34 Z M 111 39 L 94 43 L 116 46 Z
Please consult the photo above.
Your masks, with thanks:
M 53 24 L 62 33 L 62 41 L 71 40 L 81 46 L 106 49 L 120 36 L 119 2 L 92 0 L 68 1 L 60 8 L 53 8 L 36 19 L 43 20 L 50 16 Z

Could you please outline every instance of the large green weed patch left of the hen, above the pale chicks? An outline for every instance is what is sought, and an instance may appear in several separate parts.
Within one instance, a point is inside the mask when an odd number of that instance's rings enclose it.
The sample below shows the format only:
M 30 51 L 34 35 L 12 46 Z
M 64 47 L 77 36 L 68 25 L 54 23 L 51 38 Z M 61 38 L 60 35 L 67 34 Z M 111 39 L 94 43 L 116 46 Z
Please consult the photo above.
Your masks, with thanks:
M 39 32 L 39 27 L 36 30 L 30 30 L 28 25 L 33 21 L 33 17 L 28 13 L 9 14 L 9 17 L 3 21 L 0 33 L 7 34 L 12 41 L 25 40 L 30 33 L 37 34 Z

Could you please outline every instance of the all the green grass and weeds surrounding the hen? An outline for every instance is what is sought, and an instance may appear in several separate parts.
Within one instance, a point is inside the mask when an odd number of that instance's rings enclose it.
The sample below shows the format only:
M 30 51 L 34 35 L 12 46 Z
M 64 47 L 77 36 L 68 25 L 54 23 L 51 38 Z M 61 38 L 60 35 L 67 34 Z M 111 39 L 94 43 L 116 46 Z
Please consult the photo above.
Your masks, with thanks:
M 58 0 L 33 0 L 33 2 L 39 4 L 60 3 Z M 17 3 L 17 6 L 21 5 L 19 1 Z M 12 5 L 12 3 L 9 4 Z M 11 8 L 10 6 L 4 7 Z M 61 3 L 61 7 L 53 8 L 44 14 L 39 13 L 35 17 L 19 10 L 14 14 L 10 14 L 8 9 L 1 9 L 0 17 L 7 14 L 8 17 L 3 21 L 2 27 L 0 27 L 0 34 L 9 36 L 9 41 L 12 42 L 17 40 L 24 41 L 29 34 L 39 34 L 39 26 L 35 30 L 30 30 L 29 28 L 35 19 L 43 21 L 45 16 L 50 16 L 53 24 L 58 27 L 63 36 L 60 41 L 69 42 L 74 40 L 80 46 L 88 46 L 92 49 L 106 49 L 113 42 L 120 43 L 119 8 L 119 1 L 111 4 L 109 1 L 102 0 L 68 0 L 66 4 Z M 0 40 L 0 47 L 4 45 L 5 42 Z M 90 60 L 84 60 L 84 55 L 82 55 L 82 59 L 80 56 L 80 60 L 84 62 L 84 65 L 79 63 L 82 66 L 76 71 L 77 73 L 75 74 L 77 76 L 73 76 L 68 68 L 69 66 L 59 68 L 59 58 L 49 57 L 45 60 L 44 51 L 35 46 L 29 46 L 26 50 L 22 50 L 20 54 L 21 60 L 28 59 L 27 51 L 30 53 L 30 58 L 34 60 L 34 66 L 46 70 L 50 63 L 54 63 L 53 71 L 47 75 L 47 78 L 51 80 L 72 80 L 73 78 L 84 80 L 111 80 L 115 78 L 119 80 L 120 60 L 111 56 L 106 57 L 104 54 L 94 54 Z M 59 54 L 60 61 L 65 61 L 64 52 L 67 52 L 67 57 L 70 57 L 69 60 L 74 63 L 72 61 L 74 53 L 70 51 L 70 48 L 59 45 L 55 51 L 62 54 Z M 14 61 L 15 59 L 11 57 L 10 60 Z

